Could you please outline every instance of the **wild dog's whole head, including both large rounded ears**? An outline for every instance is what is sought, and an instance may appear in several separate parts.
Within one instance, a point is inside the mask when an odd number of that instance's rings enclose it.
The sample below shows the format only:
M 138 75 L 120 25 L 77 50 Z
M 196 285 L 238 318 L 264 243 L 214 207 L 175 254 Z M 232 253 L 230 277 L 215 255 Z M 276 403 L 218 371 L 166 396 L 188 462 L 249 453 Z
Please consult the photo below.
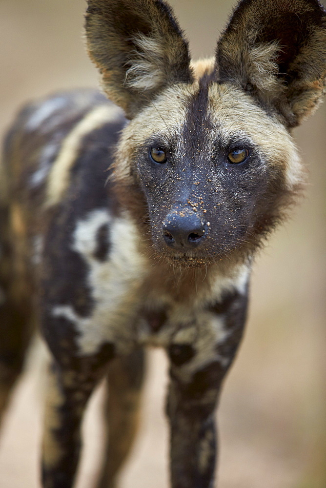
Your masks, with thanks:
M 91 57 L 131 119 L 115 179 L 147 244 L 186 265 L 247 259 L 302 181 L 289 129 L 323 91 L 325 12 L 315 0 L 242 1 L 215 60 L 190 63 L 163 1 L 89 5 Z

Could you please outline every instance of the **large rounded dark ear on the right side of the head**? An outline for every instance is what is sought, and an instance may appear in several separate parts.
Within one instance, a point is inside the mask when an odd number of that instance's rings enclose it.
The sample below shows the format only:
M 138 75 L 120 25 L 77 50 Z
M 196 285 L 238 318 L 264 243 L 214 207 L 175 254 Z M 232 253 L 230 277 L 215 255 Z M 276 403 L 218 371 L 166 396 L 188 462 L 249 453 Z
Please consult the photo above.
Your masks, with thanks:
M 318 0 L 241 0 L 218 42 L 219 80 L 298 125 L 325 92 L 325 14 Z

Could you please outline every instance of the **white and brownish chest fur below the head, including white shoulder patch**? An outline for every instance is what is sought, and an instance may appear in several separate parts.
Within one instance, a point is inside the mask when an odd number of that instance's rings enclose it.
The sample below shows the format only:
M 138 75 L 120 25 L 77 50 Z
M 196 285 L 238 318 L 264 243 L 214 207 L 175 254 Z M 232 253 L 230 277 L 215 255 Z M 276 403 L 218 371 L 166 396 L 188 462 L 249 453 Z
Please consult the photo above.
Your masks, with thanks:
M 103 259 L 98 249 L 99 230 L 104 225 L 108 251 Z M 168 281 L 166 273 L 162 276 L 164 269 L 153 267 L 145 258 L 140 241 L 127 215 L 113 218 L 104 208 L 92 210 L 76 222 L 69 245 L 85 263 L 83 286 L 92 309 L 80 316 L 74 304 L 67 305 L 62 297 L 51 313 L 74 323 L 81 353 L 92 354 L 105 342 L 128 352 L 136 344 L 192 344 L 204 331 L 214 341 L 223 333 L 222 319 L 213 317 L 205 304 L 218 300 L 223 289 L 230 287 L 229 280 L 195 286 L 186 280 L 179 283 L 172 272 Z

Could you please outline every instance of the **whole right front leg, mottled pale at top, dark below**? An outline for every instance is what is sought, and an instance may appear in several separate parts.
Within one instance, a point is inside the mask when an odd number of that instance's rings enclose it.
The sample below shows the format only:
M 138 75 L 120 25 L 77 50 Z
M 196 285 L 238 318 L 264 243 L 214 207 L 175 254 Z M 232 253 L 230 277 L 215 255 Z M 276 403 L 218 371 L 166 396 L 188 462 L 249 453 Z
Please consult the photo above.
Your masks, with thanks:
M 201 313 L 193 330 L 180 328 L 168 348 L 172 488 L 213 487 L 214 412 L 242 338 L 246 307 L 245 290 L 225 293 Z

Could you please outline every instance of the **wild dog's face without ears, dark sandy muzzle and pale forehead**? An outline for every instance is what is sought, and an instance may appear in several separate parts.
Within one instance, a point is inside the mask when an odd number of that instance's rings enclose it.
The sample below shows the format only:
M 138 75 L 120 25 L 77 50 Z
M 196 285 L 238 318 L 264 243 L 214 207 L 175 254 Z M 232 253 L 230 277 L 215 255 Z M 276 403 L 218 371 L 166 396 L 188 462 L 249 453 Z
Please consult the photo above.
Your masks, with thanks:
M 188 265 L 251 254 L 301 179 L 284 126 L 209 74 L 143 109 L 118 160 L 144 196 L 156 254 Z

